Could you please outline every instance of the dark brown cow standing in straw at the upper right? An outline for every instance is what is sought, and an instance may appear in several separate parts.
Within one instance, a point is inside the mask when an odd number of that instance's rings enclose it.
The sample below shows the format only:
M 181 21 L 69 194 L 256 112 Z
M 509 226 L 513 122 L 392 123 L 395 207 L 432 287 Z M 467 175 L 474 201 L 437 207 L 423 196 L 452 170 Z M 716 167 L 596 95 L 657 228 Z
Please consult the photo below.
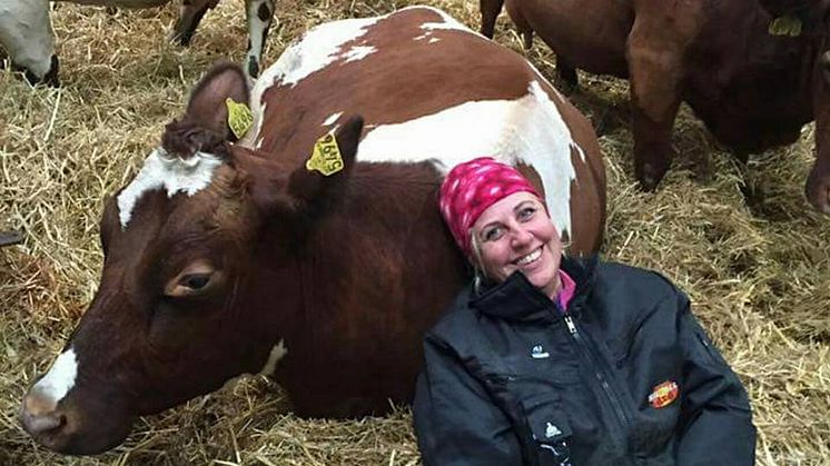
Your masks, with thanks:
M 556 53 L 560 76 L 575 68 L 631 82 L 634 171 L 654 189 L 669 169 L 671 130 L 681 101 L 741 158 L 790 143 L 816 119 L 818 158 L 807 198 L 830 214 L 830 131 L 826 0 L 761 0 L 779 10 L 812 3 L 798 37 L 770 33 L 759 0 L 506 0 L 525 34 Z M 493 36 L 504 0 L 481 0 L 482 31 Z

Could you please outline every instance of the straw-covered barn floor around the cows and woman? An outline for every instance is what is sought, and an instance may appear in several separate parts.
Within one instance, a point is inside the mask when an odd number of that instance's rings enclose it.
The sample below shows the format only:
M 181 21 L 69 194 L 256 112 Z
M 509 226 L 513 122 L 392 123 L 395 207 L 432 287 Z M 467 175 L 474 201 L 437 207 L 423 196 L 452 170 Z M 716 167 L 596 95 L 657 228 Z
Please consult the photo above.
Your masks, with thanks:
M 388 12 L 405 1 L 279 3 L 266 63 L 292 38 L 325 20 Z M 477 29 L 477 2 L 438 0 Z M 207 14 L 190 49 L 166 34 L 177 6 L 108 14 L 59 4 L 53 12 L 61 89 L 0 72 L 0 230 L 23 229 L 23 246 L 0 250 L 0 465 L 414 465 L 406 409 L 355 422 L 304 420 L 260 378 L 142 419 L 129 440 L 91 458 L 36 446 L 17 423 L 20 398 L 91 299 L 101 266 L 98 219 L 182 109 L 190 86 L 218 59 L 241 61 L 243 0 Z M 496 40 L 520 50 L 503 16 Z M 528 53 L 544 75 L 553 57 Z M 803 198 L 812 127 L 790 147 L 747 167 L 720 150 L 683 110 L 680 153 L 655 195 L 633 186 L 623 81 L 581 76 L 572 100 L 587 113 L 606 155 L 604 256 L 662 270 L 747 384 L 759 428 L 758 464 L 830 464 L 830 219 Z

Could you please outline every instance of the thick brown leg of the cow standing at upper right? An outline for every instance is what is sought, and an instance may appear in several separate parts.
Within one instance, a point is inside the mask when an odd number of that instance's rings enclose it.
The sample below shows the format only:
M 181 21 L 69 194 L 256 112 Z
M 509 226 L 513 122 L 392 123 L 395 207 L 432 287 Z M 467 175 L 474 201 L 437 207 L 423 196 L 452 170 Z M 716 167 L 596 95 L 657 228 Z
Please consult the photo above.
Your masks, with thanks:
M 701 23 L 700 7 L 693 2 L 675 2 L 673 9 L 660 2 L 638 2 L 626 42 L 634 175 L 645 190 L 656 188 L 674 156 L 671 133 L 680 106 L 683 54 Z

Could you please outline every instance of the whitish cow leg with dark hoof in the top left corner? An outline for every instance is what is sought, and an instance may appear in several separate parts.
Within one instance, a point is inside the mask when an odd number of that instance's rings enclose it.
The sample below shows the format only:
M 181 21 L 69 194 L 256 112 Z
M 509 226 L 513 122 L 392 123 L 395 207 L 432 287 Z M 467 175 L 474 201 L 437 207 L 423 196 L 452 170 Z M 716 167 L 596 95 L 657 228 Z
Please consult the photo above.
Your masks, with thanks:
M 0 46 L 26 78 L 58 86 L 58 57 L 49 20 L 48 0 L 3 0 L 0 8 Z

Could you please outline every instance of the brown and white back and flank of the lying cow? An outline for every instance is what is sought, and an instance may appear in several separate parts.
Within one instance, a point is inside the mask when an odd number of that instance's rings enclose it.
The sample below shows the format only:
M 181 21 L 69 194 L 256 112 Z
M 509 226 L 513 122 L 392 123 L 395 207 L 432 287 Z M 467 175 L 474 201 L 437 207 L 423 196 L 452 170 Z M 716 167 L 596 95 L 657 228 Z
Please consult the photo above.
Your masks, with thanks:
M 494 156 L 533 167 L 575 250 L 601 240 L 604 168 L 587 120 L 523 57 L 438 10 L 310 30 L 257 81 L 251 107 L 256 130 L 244 142 L 297 163 L 339 119 L 359 113 L 358 161 L 429 160 L 445 172 Z

